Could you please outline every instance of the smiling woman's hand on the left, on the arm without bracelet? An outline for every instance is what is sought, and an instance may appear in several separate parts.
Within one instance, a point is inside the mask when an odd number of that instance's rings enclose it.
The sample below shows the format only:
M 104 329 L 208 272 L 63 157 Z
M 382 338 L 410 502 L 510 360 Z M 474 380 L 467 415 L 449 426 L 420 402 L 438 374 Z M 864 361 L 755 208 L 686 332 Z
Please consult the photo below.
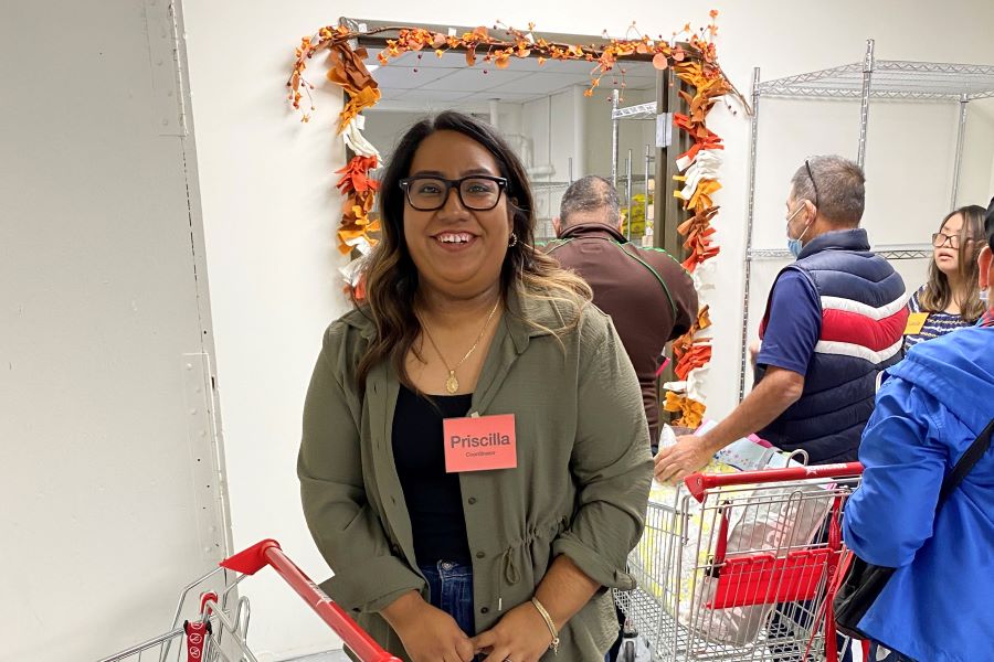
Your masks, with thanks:
M 476 649 L 455 619 L 410 592 L 383 609 L 413 662 L 473 662 Z

